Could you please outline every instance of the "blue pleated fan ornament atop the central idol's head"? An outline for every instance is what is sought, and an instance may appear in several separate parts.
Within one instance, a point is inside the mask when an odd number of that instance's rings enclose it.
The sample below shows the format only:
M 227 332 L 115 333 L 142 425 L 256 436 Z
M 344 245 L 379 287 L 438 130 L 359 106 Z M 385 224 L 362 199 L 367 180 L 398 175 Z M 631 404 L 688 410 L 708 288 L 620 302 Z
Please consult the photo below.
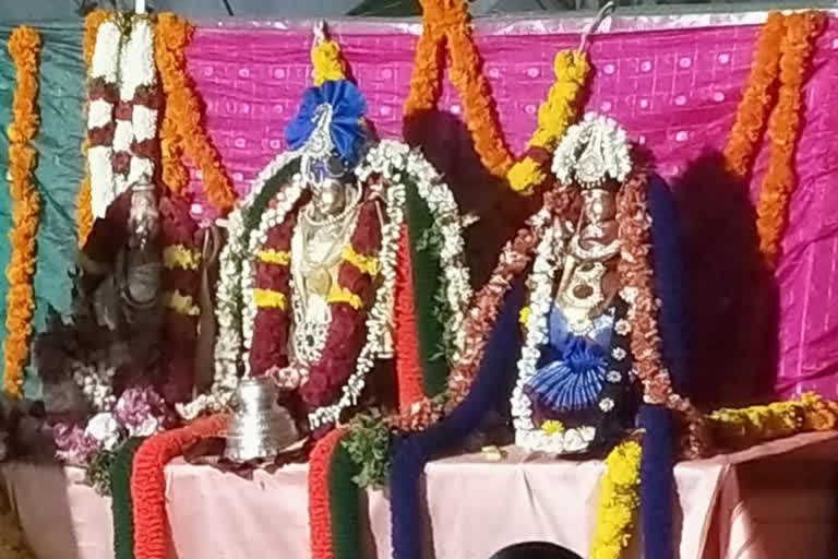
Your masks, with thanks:
M 299 150 L 311 138 L 323 105 L 332 107 L 328 135 L 333 151 L 348 167 L 355 167 L 366 139 L 361 118 L 367 102 L 354 83 L 347 80 L 330 80 L 319 87 L 309 87 L 302 95 L 297 116 L 285 127 L 285 140 L 291 150 Z

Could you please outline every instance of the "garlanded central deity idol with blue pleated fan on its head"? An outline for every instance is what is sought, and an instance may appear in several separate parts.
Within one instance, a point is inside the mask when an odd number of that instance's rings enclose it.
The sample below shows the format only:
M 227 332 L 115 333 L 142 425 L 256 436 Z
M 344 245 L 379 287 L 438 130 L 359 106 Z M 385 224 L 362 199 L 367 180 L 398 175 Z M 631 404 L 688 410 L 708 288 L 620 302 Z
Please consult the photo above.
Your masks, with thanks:
M 421 154 L 373 141 L 364 110 L 347 80 L 308 90 L 286 128 L 291 151 L 229 215 L 215 381 L 180 406 L 184 417 L 228 407 L 244 374 L 273 380 L 299 430 L 318 435 L 371 392 L 369 373 L 396 346 L 424 344 L 444 365 L 442 341 L 456 335 L 470 297 L 457 207 Z M 430 329 L 394 343 L 405 312 L 398 286 L 409 292 L 411 323 L 427 318 Z

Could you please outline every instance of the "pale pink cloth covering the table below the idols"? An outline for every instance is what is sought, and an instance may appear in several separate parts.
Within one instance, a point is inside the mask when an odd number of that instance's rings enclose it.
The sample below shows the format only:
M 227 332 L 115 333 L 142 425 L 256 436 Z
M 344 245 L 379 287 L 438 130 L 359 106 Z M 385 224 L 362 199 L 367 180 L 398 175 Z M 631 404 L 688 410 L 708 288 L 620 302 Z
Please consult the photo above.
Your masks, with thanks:
M 469 454 L 426 469 L 429 549 L 436 559 L 486 559 L 517 542 L 547 539 L 585 556 L 596 520 L 601 462 Z M 79 469 L 2 468 L 39 559 L 111 559 L 109 499 Z M 837 557 L 838 433 L 809 433 L 675 467 L 681 559 Z M 252 480 L 211 466 L 166 468 L 177 559 L 309 557 L 307 466 Z M 370 491 L 366 557 L 388 558 L 386 492 Z M 636 543 L 637 537 L 633 538 Z M 636 549 L 627 557 L 638 557 Z

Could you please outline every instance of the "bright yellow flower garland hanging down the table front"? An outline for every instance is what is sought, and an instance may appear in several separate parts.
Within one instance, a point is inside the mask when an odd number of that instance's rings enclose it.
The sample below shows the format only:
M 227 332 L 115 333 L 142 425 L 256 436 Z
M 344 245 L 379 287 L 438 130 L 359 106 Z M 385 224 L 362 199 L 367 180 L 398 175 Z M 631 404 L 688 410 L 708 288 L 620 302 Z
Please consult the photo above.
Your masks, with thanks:
M 639 484 L 641 445 L 631 440 L 622 442 L 606 459 L 590 559 L 619 559 L 628 546 L 633 516 L 641 503 Z

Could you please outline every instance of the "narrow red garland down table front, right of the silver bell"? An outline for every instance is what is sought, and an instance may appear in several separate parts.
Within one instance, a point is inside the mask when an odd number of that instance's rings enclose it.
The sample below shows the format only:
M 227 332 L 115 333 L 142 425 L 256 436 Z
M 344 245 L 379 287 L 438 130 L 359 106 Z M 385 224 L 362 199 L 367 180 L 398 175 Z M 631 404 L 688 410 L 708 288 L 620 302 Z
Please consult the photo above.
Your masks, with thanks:
M 311 558 L 332 559 L 332 519 L 328 504 L 328 468 L 332 453 L 346 431 L 335 429 L 314 445 L 309 457 L 309 530 Z M 137 558 L 139 559 L 139 558 Z

